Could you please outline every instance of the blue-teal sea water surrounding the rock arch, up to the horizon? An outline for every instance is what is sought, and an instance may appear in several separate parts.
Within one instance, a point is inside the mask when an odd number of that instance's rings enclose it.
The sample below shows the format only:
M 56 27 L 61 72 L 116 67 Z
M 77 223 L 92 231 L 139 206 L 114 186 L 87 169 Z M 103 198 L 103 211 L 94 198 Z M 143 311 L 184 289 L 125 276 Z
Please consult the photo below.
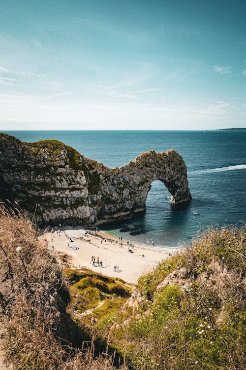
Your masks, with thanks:
M 173 148 L 183 157 L 192 200 L 170 205 L 165 185 L 154 181 L 146 212 L 101 225 L 133 242 L 157 246 L 190 244 L 207 226 L 246 222 L 246 131 L 7 131 L 34 142 L 56 139 L 109 167 L 122 166 L 143 151 Z M 199 213 L 194 215 L 193 212 Z

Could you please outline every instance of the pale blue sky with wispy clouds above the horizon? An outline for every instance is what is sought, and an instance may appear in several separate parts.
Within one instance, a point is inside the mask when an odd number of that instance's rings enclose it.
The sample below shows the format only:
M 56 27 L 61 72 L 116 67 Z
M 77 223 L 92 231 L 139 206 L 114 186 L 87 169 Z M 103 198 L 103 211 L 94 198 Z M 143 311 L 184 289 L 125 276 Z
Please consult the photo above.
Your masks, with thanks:
M 246 127 L 245 0 L 0 0 L 0 130 Z

